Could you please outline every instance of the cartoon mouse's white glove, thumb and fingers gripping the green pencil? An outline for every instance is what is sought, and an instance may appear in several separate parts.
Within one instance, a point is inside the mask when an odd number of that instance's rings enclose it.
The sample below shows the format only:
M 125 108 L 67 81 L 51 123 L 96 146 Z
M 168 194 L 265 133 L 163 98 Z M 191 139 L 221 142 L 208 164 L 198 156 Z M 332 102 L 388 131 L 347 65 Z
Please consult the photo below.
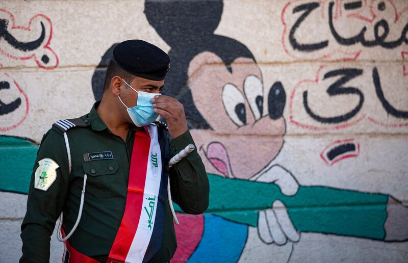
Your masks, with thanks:
M 273 182 L 283 194 L 289 196 L 295 195 L 299 189 L 293 175 L 279 165 L 272 166 L 256 180 Z M 288 240 L 298 242 L 300 238 L 300 233 L 293 226 L 285 204 L 280 200 L 275 200 L 271 208 L 259 212 L 258 234 L 264 243 L 275 243 L 279 246 L 286 244 Z

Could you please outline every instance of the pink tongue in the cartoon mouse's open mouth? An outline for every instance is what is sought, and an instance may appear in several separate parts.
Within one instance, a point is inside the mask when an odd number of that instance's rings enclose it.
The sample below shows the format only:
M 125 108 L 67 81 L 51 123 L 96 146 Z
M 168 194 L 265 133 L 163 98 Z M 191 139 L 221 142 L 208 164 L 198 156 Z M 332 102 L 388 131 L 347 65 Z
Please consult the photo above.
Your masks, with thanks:
M 207 147 L 207 158 L 210 163 L 224 176 L 232 175 L 230 159 L 224 145 L 219 142 L 212 142 Z

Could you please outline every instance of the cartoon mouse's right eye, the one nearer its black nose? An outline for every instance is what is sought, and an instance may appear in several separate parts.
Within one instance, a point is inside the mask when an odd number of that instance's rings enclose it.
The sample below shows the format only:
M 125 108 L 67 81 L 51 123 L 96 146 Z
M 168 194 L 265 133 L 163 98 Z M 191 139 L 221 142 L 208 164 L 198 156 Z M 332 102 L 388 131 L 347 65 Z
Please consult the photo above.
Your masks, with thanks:
M 244 92 L 253 117 L 259 120 L 264 111 L 263 85 L 256 76 L 247 76 L 244 81 Z

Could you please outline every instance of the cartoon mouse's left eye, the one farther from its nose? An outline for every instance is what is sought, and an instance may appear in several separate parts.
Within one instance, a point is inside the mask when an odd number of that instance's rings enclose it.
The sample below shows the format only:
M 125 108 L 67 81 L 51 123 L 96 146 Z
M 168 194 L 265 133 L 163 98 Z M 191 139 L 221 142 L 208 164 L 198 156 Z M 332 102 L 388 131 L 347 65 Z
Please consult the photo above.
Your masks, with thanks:
M 222 103 L 228 117 L 238 126 L 246 124 L 245 98 L 234 85 L 228 83 L 222 89 Z

